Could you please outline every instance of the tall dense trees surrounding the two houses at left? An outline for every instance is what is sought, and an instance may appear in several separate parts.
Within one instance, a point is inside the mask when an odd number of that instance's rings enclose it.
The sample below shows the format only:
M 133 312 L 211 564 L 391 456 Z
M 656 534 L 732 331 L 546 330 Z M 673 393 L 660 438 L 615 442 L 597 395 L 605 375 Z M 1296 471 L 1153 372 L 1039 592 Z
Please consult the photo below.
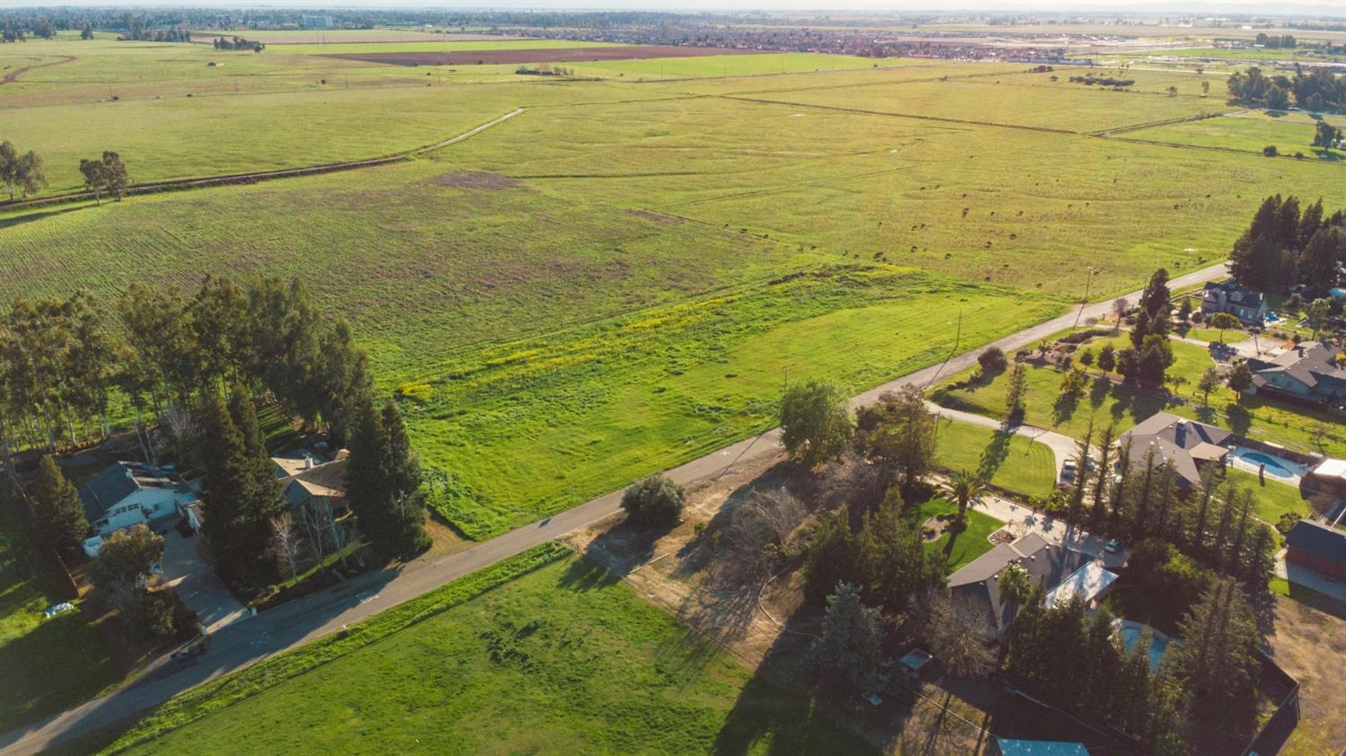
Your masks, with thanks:
M 347 503 L 377 555 L 428 546 L 419 462 L 397 407 L 376 400 L 349 323 L 324 317 L 297 279 L 253 276 L 238 286 L 207 276 L 190 298 L 133 283 L 106 306 L 78 291 L 66 301 L 19 299 L 0 317 L 0 457 L 9 481 L 19 482 L 16 447 L 105 439 L 112 408 L 124 404 L 147 461 L 172 455 L 205 470 L 206 538 L 217 569 L 242 592 L 275 577 L 277 517 L 288 509 L 258 430 L 258 400 L 350 446 Z M 43 540 L 77 548 L 87 530 L 78 497 L 48 481 L 32 499 Z M 327 526 L 341 550 L 335 523 L 315 526 Z

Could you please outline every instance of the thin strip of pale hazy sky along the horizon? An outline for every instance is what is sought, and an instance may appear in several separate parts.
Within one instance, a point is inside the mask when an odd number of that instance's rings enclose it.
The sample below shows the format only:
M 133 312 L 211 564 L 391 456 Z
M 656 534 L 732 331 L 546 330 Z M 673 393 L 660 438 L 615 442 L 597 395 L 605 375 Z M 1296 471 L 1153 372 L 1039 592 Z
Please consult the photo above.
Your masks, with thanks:
M 1314 15 L 1346 19 L 1346 0 L 0 0 L 0 9 L 35 5 L 210 8 L 509 8 L 666 11 L 1004 11 L 1147 15 Z

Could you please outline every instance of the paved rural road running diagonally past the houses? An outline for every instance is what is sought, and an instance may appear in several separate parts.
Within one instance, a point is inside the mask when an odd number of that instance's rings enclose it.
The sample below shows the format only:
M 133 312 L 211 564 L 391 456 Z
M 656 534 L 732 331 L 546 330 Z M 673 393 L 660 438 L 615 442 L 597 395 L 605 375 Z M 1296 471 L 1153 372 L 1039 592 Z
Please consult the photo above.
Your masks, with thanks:
M 1228 264 L 1221 263 L 1178 276 L 1170 282 L 1170 286 L 1182 288 L 1226 274 Z M 1139 292 L 1127 295 L 1131 301 L 1136 301 L 1137 296 Z M 1110 299 L 1088 305 L 1078 315 L 1077 313 L 1081 310 L 1073 307 L 1065 315 L 1007 336 L 991 345 L 1012 353 L 1022 346 L 1034 345 L 1047 336 L 1070 327 L 1077 318 L 1081 321 L 1090 317 L 1100 318 L 1110 311 Z M 880 393 L 907 384 L 930 385 L 940 376 L 950 376 L 972 367 L 977 361 L 977 354 L 991 345 L 977 345 L 976 349 L 952 356 L 940 365 L 931 365 L 891 380 L 855 398 L 853 403 L 856 406 L 871 404 L 878 400 Z M 705 457 L 692 460 L 668 470 L 666 474 L 680 484 L 715 476 L 735 462 L 771 453 L 779 445 L 779 429 L 774 429 L 759 437 L 743 439 Z M 621 499 L 622 492 L 615 491 L 538 523 L 448 554 L 419 569 L 402 571 L 394 567 L 366 573 L 307 598 L 291 601 L 256 617 L 232 624 L 214 635 L 210 652 L 195 663 L 172 667 L 160 660 L 136 682 L 43 722 L 4 733 L 0 736 L 0 751 L 4 753 L 36 753 L 129 720 L 209 679 L 254 664 L 272 654 L 336 631 L 343 624 L 359 621 L 533 546 L 608 517 L 621 511 Z

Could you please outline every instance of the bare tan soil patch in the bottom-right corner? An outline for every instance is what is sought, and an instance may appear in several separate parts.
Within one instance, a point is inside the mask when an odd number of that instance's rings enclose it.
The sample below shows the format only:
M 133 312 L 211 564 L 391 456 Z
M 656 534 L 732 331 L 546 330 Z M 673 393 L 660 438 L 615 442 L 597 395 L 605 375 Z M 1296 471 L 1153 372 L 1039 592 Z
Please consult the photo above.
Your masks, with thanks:
M 1276 597 L 1272 656 L 1299 681 L 1299 725 L 1283 756 L 1322 756 L 1346 748 L 1346 620 Z

